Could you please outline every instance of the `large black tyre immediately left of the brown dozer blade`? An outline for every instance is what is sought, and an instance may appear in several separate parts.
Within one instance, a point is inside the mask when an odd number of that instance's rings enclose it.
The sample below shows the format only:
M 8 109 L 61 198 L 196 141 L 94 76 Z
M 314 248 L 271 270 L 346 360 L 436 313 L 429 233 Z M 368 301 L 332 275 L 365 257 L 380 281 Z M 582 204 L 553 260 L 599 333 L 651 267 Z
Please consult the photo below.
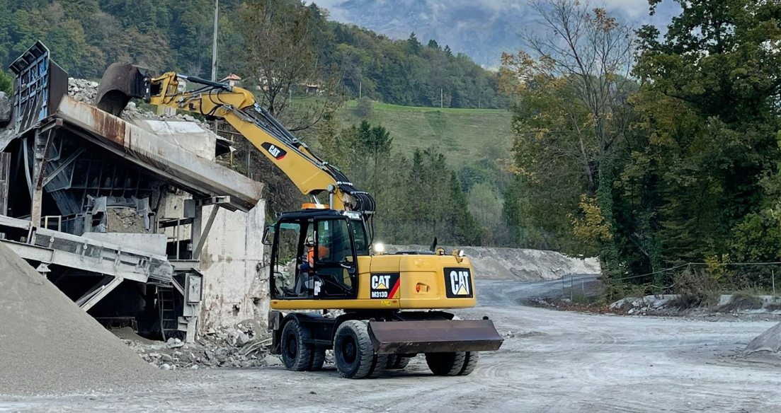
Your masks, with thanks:
M 377 358 L 366 322 L 348 320 L 339 326 L 333 338 L 333 358 L 345 379 L 363 379 L 373 372 Z

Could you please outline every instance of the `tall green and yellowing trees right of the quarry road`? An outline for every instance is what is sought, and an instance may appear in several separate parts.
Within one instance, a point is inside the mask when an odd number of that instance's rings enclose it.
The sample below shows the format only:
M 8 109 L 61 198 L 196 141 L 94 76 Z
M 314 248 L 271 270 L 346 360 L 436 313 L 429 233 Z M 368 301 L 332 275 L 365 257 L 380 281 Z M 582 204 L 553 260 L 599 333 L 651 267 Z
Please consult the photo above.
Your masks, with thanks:
M 538 8 L 547 35 L 504 59 L 505 212 L 520 244 L 599 254 L 612 294 L 697 303 L 771 287 L 754 263 L 781 259 L 781 4 L 677 3 L 664 36 L 578 2 Z

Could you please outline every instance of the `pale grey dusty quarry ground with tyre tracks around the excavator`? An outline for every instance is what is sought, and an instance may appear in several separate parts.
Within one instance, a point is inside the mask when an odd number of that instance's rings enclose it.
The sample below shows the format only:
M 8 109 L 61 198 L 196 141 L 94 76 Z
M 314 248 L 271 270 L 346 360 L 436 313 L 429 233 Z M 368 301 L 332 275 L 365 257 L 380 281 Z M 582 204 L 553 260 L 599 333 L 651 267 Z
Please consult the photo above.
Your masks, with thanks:
M 584 278 L 588 279 L 588 278 Z M 578 282 L 578 278 L 575 282 Z M 331 367 L 170 372 L 165 384 L 88 393 L 0 397 L 2 411 L 776 411 L 781 376 L 736 354 L 773 321 L 705 321 L 559 312 L 519 304 L 561 282 L 483 281 L 480 304 L 507 336 L 471 376 L 405 372 L 340 379 Z

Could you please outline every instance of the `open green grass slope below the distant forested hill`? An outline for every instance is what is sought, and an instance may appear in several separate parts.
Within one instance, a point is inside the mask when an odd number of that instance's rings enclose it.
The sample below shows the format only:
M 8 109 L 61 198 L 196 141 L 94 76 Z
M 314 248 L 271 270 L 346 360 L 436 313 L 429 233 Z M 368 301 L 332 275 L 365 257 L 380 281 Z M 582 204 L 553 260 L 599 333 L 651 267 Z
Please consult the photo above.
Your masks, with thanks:
M 360 123 L 355 101 L 348 101 L 339 112 L 345 126 Z M 451 165 L 469 162 L 484 148 L 512 147 L 512 114 L 504 109 L 439 109 L 388 105 L 374 102 L 372 125 L 391 132 L 394 151 L 412 154 L 415 149 L 435 147 Z

